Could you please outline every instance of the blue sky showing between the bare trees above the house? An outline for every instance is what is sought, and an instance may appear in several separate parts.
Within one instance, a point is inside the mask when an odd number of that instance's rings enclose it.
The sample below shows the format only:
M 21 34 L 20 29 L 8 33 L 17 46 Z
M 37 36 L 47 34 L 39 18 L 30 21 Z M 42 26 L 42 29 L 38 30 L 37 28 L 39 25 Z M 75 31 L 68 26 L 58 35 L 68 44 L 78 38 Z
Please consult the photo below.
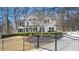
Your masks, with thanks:
M 29 15 L 33 12 L 35 12 L 34 10 L 36 10 L 36 12 L 40 12 L 43 10 L 43 7 L 20 7 L 20 10 L 17 10 L 17 14 L 23 16 L 23 15 Z M 16 8 L 18 9 L 18 8 Z M 75 8 L 74 8 L 75 9 Z M 3 11 L 3 10 L 2 10 Z M 2 11 L 0 8 L 0 23 L 2 23 Z M 53 14 L 53 12 L 57 12 L 58 8 L 57 7 L 44 7 L 44 13 L 50 13 Z M 73 13 L 76 13 L 76 10 L 73 11 Z M 10 20 L 11 23 L 14 22 L 14 7 L 8 7 L 8 19 Z

